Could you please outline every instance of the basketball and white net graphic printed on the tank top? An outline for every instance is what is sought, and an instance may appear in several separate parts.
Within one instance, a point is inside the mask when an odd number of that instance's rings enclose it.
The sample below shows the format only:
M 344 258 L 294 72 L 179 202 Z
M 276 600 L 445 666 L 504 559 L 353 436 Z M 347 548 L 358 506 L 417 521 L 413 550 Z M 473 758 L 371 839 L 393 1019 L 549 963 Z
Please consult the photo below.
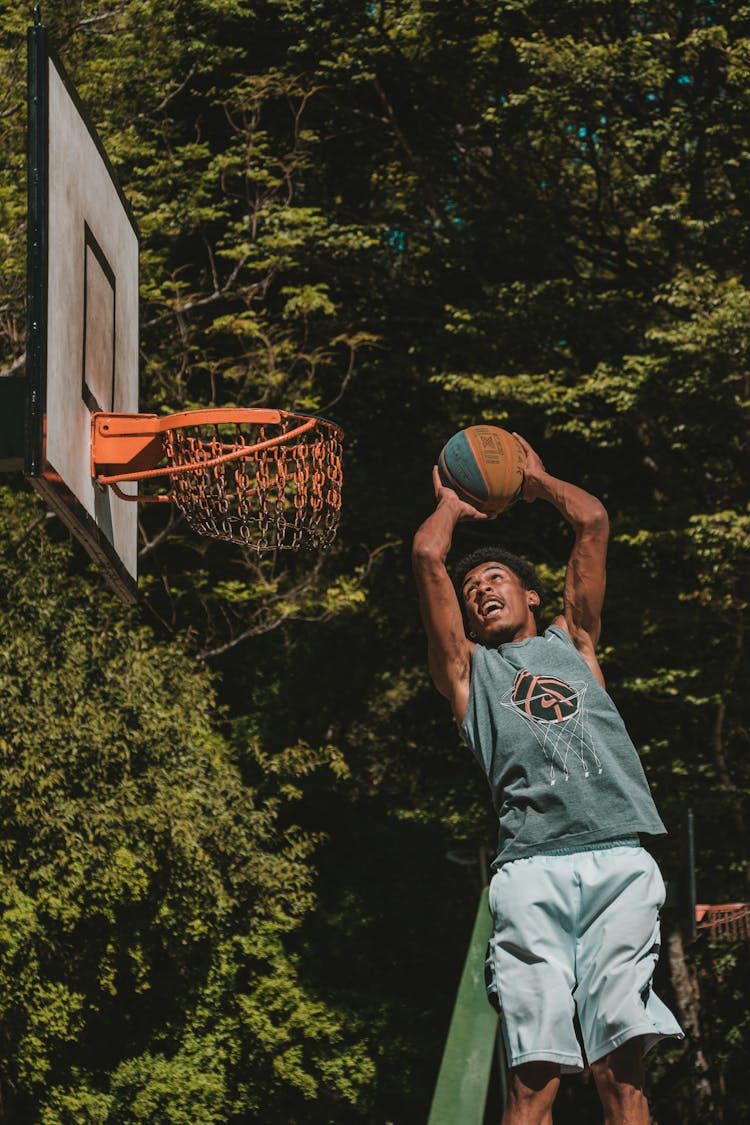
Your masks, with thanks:
M 602 762 L 586 726 L 588 684 L 569 684 L 554 676 L 537 676 L 523 668 L 513 687 L 500 698 L 503 706 L 530 723 L 534 738 L 550 763 L 550 784 L 557 781 L 555 765 L 568 781 L 568 759 L 576 758 L 588 777 L 590 766 L 602 773 Z

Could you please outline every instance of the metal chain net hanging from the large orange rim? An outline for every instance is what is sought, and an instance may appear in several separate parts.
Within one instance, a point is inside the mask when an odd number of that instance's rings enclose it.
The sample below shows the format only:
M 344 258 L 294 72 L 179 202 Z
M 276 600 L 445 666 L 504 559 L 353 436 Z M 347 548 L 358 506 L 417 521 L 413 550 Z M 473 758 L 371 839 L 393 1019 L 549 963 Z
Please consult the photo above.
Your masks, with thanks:
M 315 418 L 284 440 L 307 421 L 287 414 L 278 424 L 204 422 L 165 431 L 170 500 L 193 531 L 259 552 L 329 547 L 341 514 L 342 432 Z

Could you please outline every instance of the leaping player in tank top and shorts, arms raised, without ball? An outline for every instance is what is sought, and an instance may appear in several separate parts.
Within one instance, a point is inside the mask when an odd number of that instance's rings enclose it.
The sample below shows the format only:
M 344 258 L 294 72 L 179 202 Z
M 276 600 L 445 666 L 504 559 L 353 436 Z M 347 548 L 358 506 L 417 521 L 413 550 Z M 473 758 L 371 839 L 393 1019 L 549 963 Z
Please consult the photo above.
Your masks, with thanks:
M 499 818 L 487 969 L 510 1069 L 503 1125 L 549 1125 L 560 1074 L 586 1063 L 607 1125 L 647 1125 L 643 1056 L 683 1033 L 651 988 L 665 886 L 641 837 L 665 827 L 596 657 L 607 514 L 518 440 L 523 500 L 546 501 L 575 536 L 543 633 L 541 583 L 517 556 L 482 548 L 451 579 L 457 523 L 487 516 L 437 470 L 414 539 L 430 670 Z

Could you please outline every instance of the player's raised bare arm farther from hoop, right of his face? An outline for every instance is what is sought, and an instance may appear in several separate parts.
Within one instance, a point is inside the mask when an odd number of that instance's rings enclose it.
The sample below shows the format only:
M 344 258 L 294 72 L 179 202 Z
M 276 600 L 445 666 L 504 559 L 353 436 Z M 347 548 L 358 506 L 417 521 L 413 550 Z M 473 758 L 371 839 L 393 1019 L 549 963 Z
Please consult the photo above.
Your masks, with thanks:
M 545 500 L 568 521 L 576 539 L 568 559 L 562 615 L 555 624 L 563 628 L 596 677 L 604 684 L 596 659 L 602 631 L 602 605 L 606 587 L 609 521 L 604 504 L 590 493 L 551 476 L 527 441 L 516 434 L 526 451 L 522 496 L 525 501 Z

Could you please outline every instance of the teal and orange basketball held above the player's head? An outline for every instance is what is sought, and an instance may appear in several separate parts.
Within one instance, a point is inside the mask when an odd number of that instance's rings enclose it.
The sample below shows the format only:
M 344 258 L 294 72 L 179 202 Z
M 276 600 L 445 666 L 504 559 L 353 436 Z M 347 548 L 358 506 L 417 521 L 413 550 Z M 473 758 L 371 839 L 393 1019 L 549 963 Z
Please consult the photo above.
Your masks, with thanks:
M 437 460 L 442 483 L 488 515 L 499 515 L 523 486 L 526 453 L 521 442 L 494 425 L 470 425 L 453 434 Z

